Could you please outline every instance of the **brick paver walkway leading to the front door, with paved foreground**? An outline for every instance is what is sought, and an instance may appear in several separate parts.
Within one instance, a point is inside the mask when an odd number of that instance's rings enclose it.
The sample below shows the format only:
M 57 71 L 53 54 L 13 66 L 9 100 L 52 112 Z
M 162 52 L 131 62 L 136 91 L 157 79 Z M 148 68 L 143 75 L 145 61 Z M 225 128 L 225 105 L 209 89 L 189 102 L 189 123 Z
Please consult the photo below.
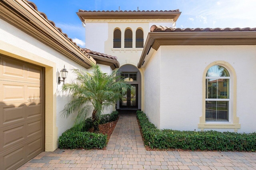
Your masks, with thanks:
M 256 152 L 146 151 L 134 113 L 121 113 L 106 150 L 42 152 L 19 170 L 256 170 Z

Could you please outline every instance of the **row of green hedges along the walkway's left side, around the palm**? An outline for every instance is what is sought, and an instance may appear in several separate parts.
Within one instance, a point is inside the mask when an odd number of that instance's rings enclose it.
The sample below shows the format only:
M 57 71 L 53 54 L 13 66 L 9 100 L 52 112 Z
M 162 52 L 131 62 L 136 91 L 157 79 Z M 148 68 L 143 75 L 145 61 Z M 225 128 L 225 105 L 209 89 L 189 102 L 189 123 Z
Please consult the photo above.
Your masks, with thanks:
M 102 115 L 100 124 L 115 121 L 118 118 L 118 111 Z M 102 133 L 87 132 L 93 125 L 92 118 L 87 118 L 82 131 L 75 131 L 70 128 L 59 138 L 60 149 L 102 149 L 107 144 L 107 135 Z

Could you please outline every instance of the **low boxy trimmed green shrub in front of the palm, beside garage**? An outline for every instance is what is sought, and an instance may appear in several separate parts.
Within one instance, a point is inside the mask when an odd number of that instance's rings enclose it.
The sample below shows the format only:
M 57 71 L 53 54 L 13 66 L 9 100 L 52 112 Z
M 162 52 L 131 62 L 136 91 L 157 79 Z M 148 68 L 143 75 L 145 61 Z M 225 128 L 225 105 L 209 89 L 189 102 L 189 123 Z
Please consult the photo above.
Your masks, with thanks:
M 67 130 L 59 138 L 60 149 L 102 149 L 106 146 L 107 135 L 102 133 Z

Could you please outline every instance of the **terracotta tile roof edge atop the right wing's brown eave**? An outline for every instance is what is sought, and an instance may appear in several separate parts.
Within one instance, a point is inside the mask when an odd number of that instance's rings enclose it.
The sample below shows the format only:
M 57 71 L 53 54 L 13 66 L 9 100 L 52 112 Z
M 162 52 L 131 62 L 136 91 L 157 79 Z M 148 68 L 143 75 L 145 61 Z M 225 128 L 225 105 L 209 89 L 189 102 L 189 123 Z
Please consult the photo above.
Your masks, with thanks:
M 256 31 L 255 28 L 170 28 L 152 25 L 150 32 L 227 32 L 227 31 Z

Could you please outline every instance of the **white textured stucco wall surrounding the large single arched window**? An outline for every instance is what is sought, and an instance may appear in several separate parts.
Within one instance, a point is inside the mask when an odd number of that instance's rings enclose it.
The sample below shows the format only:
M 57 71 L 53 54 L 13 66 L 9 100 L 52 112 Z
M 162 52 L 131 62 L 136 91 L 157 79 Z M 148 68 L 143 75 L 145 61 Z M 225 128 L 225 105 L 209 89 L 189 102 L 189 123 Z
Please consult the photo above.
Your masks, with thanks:
M 256 48 L 255 46 L 161 46 L 150 59 L 145 70 L 145 111 L 154 118 L 149 102 L 155 90 L 146 88 L 151 84 L 160 87 L 160 129 L 199 131 L 202 115 L 203 72 L 214 61 L 229 63 L 236 72 L 236 113 L 241 128 L 238 132 L 256 131 Z M 161 57 L 160 57 L 161 56 Z M 155 59 L 157 58 L 157 59 Z M 153 82 L 146 78 L 150 72 L 160 77 Z M 153 75 L 152 75 L 153 76 Z M 148 84 L 150 82 L 150 84 Z M 232 93 L 232 92 L 231 92 Z M 152 102 L 154 104 L 154 102 Z M 150 107 L 150 108 L 147 108 Z M 158 108 L 159 105 L 154 106 Z M 153 116 L 154 115 L 154 116 Z M 231 114 L 232 115 L 232 114 Z M 210 129 L 204 129 L 210 130 Z M 214 129 L 234 131 L 234 129 Z

